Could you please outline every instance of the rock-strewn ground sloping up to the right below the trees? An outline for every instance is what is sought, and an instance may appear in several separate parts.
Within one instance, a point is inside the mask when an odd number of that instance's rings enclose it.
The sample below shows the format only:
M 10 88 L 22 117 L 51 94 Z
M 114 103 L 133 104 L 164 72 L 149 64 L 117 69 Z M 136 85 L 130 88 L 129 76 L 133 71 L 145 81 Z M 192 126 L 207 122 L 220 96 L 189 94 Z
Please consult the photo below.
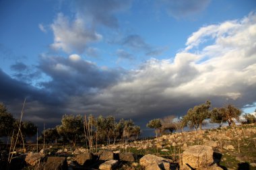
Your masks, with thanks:
M 15 153 L 0 169 L 256 169 L 256 124 L 162 135 L 101 146 L 49 146 L 40 153 Z

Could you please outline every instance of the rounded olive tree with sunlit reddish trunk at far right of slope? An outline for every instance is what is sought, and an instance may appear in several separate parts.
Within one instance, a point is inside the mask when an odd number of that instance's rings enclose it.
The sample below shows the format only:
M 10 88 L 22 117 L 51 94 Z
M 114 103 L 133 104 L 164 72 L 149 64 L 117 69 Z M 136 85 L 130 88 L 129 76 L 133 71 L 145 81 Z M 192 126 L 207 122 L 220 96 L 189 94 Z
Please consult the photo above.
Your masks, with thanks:
M 224 116 L 224 121 L 228 122 L 228 126 L 235 124 L 233 119 L 239 120 L 239 116 L 242 114 L 241 110 L 234 107 L 234 105 L 226 105 L 224 108 L 219 109 Z

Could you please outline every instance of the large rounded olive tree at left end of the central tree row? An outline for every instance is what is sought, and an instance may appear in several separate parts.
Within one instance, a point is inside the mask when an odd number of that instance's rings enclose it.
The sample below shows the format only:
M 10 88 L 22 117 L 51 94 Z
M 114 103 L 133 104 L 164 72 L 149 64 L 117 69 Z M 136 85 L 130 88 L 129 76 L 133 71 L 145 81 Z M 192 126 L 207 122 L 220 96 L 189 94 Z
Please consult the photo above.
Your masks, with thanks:
M 65 114 L 62 117 L 61 125 L 57 126 L 57 132 L 66 136 L 71 142 L 73 146 L 75 146 L 77 139 L 83 133 L 84 130 L 83 119 L 81 115 L 73 116 Z

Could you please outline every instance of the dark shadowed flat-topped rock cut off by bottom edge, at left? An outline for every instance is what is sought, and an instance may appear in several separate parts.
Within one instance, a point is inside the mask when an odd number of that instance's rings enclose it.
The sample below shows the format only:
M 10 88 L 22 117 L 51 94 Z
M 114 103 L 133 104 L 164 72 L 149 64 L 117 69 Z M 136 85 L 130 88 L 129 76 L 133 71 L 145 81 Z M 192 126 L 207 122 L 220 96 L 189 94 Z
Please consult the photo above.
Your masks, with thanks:
M 67 170 L 67 161 L 65 157 L 48 157 L 44 170 Z

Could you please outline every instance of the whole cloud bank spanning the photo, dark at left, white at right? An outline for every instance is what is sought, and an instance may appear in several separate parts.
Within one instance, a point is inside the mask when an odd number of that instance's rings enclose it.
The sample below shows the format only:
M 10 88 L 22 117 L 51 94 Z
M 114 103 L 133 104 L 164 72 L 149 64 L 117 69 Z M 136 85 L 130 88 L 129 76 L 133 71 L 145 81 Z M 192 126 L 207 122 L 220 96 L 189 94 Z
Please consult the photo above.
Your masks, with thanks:
M 232 103 L 242 108 L 255 103 L 255 21 L 256 14 L 250 13 L 205 26 L 174 58 L 151 58 L 130 71 L 98 67 L 78 54 L 41 56 L 37 68 L 49 81 L 36 88 L 0 71 L 0 99 L 15 108 L 28 96 L 31 118 L 53 118 L 58 124 L 61 114 L 86 113 L 133 118 L 145 126 L 152 118 L 183 116 L 207 99 L 214 107 Z

